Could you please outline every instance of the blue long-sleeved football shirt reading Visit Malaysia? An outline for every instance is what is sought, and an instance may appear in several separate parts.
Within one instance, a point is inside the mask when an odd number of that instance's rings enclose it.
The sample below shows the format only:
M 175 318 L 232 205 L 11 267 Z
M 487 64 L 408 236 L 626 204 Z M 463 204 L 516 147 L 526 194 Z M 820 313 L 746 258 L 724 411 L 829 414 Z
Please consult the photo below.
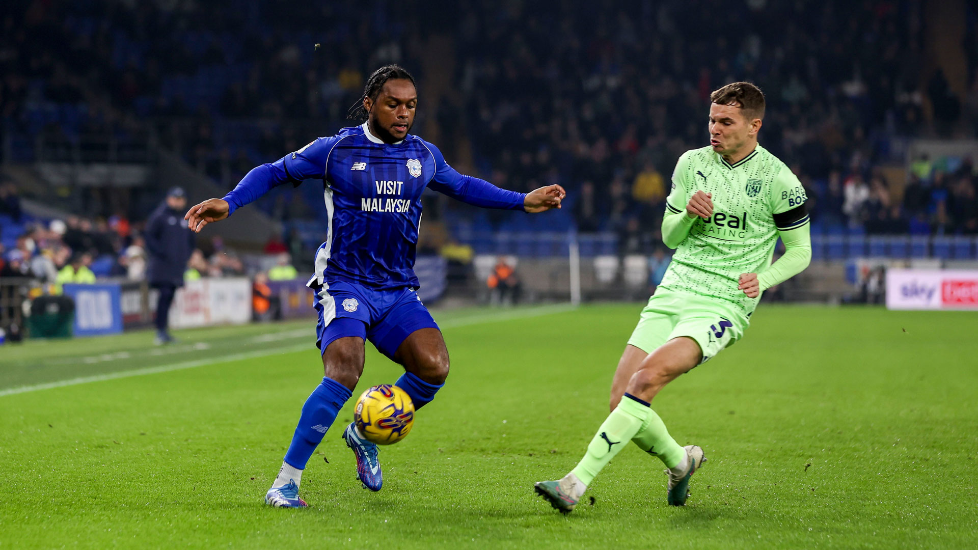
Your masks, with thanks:
M 233 213 L 272 187 L 305 179 L 323 180 L 329 214 L 309 286 L 344 281 L 378 290 L 418 287 L 413 268 L 425 187 L 491 208 L 521 210 L 525 198 L 460 174 L 418 136 L 385 144 L 364 123 L 252 169 L 224 200 Z

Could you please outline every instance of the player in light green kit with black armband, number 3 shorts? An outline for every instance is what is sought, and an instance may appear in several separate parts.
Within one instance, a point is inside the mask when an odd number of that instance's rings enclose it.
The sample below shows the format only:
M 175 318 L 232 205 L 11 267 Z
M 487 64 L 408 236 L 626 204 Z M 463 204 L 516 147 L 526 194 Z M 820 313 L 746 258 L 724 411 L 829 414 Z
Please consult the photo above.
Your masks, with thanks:
M 734 82 L 710 101 L 710 145 L 686 152 L 673 172 L 662 240 L 676 253 L 618 362 L 611 414 L 570 473 L 535 484 L 564 514 L 630 440 L 665 464 L 666 502 L 686 504 L 689 478 L 706 457 L 669 435 L 652 398 L 743 337 L 761 293 L 812 258 L 805 190 L 757 143 L 764 94 Z M 772 263 L 778 237 L 785 251 Z

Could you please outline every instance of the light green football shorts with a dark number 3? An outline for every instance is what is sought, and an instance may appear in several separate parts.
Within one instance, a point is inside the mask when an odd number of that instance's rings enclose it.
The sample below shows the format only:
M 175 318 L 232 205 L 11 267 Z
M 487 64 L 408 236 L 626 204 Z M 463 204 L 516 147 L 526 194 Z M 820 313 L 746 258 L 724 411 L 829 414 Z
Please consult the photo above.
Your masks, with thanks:
M 674 338 L 689 337 L 699 344 L 703 364 L 740 340 L 749 324 L 733 304 L 659 287 L 648 298 L 628 343 L 651 353 Z

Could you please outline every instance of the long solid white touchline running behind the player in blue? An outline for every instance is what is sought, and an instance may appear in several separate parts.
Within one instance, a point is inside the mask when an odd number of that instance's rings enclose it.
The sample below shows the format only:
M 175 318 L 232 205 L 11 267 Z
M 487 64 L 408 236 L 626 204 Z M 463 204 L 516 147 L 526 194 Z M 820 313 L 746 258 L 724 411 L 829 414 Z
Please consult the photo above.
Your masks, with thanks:
M 466 327 L 469 325 L 478 325 L 481 323 L 492 323 L 497 321 L 509 321 L 512 319 L 525 319 L 528 317 L 539 317 L 541 315 L 550 315 L 551 313 L 570 311 L 571 309 L 575 309 L 575 308 L 576 308 L 575 306 L 570 304 L 542 305 L 539 307 L 530 307 L 526 309 L 500 311 L 498 313 L 491 313 L 488 315 L 468 315 L 466 317 L 460 317 L 458 319 L 452 319 L 451 321 L 446 321 L 445 323 L 441 323 L 439 326 L 442 328 Z M 289 333 L 287 332 L 284 334 L 289 334 Z M 145 367 L 142 369 L 132 369 L 128 371 L 119 371 L 114 373 L 106 373 L 106 374 L 99 374 L 93 376 L 83 376 L 80 378 L 72 378 L 69 380 L 60 380 L 57 382 L 47 382 L 44 384 L 35 384 L 33 386 L 21 386 L 18 388 L 9 388 L 7 390 L 0 390 L 0 397 L 3 397 L 5 395 L 15 395 L 17 393 L 27 393 L 29 391 L 53 390 L 55 388 L 65 388 L 67 386 L 78 386 L 79 384 L 88 384 L 90 382 L 104 382 L 107 380 L 115 380 L 119 378 L 130 378 L 133 376 L 143 376 L 147 374 L 159 374 L 159 373 L 167 373 L 171 371 L 179 371 L 184 369 L 193 369 L 195 367 L 202 367 L 205 365 L 216 365 L 219 363 L 228 363 L 231 361 L 241 361 L 244 359 L 267 357 L 269 355 L 275 355 L 278 353 L 292 353 L 295 351 L 302 351 L 304 349 L 309 349 L 309 348 L 310 346 L 308 344 L 289 345 L 286 347 L 271 347 L 268 349 L 260 349 L 255 351 L 248 351 L 245 353 L 235 353 L 232 355 L 225 355 L 224 357 L 195 359 L 193 361 L 181 361 L 179 363 L 171 363 L 169 365 L 159 365 L 156 367 Z

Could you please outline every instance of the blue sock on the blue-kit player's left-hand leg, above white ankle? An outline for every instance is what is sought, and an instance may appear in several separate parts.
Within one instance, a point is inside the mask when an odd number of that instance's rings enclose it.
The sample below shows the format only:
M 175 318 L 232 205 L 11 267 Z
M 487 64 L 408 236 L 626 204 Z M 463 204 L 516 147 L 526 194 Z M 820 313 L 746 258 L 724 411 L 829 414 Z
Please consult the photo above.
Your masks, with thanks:
M 305 468 L 316 446 L 333 425 L 336 413 L 350 395 L 350 390 L 345 386 L 332 378 L 323 377 L 323 382 L 309 394 L 302 405 L 299 425 L 295 428 L 295 435 L 292 435 L 289 451 L 286 452 L 286 463 L 289 466 L 299 470 Z

